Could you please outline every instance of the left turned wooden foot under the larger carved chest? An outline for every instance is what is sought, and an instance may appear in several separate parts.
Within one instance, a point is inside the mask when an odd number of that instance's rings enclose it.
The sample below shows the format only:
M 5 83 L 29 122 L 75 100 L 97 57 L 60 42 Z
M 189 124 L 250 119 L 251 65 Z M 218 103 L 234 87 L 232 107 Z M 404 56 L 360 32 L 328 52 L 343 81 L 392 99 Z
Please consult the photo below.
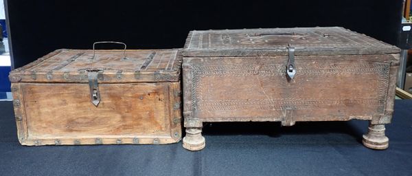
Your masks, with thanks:
M 186 128 L 186 135 L 183 137 L 183 148 L 189 151 L 200 151 L 205 148 L 205 137 L 202 136 L 201 128 Z

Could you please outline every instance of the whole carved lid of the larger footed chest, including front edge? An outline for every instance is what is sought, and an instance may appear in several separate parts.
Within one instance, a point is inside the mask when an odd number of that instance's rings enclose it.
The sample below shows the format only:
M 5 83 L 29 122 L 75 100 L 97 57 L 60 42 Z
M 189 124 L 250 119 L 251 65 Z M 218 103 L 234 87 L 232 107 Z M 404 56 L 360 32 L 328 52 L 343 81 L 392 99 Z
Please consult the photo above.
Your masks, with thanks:
M 192 31 L 183 56 L 282 56 L 399 53 L 398 47 L 345 28 L 273 28 Z

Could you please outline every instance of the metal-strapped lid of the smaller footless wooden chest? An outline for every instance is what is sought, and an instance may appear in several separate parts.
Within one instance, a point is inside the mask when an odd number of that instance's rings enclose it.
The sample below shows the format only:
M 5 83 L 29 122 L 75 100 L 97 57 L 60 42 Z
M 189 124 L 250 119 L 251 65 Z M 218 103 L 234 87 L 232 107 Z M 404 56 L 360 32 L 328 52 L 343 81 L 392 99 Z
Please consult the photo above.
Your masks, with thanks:
M 12 83 L 152 83 L 179 80 L 179 50 L 56 50 L 10 72 Z

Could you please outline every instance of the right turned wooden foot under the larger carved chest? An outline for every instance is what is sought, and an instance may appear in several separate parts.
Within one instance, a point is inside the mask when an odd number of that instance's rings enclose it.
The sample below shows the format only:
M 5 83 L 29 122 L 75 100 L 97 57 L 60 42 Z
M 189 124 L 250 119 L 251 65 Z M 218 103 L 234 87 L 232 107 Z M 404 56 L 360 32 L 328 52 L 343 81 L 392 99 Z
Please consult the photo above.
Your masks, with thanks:
M 385 124 L 369 124 L 369 130 L 363 135 L 363 145 L 367 148 L 383 150 L 389 146 L 389 138 L 385 136 Z

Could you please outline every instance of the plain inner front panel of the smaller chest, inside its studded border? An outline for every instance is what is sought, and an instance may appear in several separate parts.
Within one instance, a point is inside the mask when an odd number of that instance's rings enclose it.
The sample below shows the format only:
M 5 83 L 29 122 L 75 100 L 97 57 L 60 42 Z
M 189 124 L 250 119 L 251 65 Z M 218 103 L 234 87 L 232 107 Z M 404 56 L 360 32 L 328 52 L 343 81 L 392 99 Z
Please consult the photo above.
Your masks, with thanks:
M 168 134 L 167 85 L 101 84 L 98 107 L 88 90 L 86 84 L 24 84 L 29 138 Z

